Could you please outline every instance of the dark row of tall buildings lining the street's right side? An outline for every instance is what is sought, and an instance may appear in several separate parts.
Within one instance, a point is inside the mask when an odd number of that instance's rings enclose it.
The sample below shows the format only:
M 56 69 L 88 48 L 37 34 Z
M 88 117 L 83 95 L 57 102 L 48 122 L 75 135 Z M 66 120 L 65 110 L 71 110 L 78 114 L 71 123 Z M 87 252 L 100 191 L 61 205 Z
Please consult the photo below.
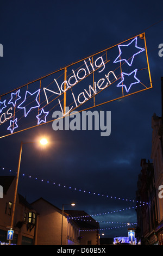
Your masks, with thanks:
M 162 90 L 163 92 L 163 90 Z M 162 108 L 163 109 L 163 108 Z M 163 113 L 163 111 L 162 111 Z M 142 160 L 142 170 L 137 182 L 136 200 L 147 204 L 137 204 L 137 235 L 142 243 L 163 245 L 163 117 L 152 117 L 153 170 Z

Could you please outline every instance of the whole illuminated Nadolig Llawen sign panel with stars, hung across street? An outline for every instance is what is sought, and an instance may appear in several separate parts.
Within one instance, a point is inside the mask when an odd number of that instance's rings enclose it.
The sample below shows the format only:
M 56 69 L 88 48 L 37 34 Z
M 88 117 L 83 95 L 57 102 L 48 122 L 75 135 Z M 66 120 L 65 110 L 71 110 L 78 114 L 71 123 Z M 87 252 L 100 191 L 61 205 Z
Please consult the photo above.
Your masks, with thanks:
M 149 88 L 143 33 L 1 95 L 0 138 Z

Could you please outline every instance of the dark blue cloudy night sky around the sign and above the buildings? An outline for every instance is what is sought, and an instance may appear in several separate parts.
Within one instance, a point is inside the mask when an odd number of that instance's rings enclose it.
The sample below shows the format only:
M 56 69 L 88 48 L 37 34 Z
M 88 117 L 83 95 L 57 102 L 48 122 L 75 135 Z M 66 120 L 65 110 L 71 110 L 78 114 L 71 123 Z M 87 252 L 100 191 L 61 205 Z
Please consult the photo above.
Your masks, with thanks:
M 0 175 L 15 175 L 21 141 L 47 137 L 44 149 L 36 143 L 23 145 L 18 192 L 29 203 L 43 197 L 60 209 L 75 202 L 74 210 L 102 221 L 99 233 L 105 237 L 128 235 L 127 227 L 120 226 L 136 222 L 133 200 L 140 162 L 152 161 L 151 120 L 153 113 L 161 115 L 161 6 L 162 1 L 139 0 L 1 1 L 1 95 L 146 34 L 153 88 L 96 108 L 111 111 L 110 136 L 102 137 L 100 131 L 54 131 L 49 123 L 0 139 Z M 147 73 L 145 82 L 149 86 Z M 65 209 L 72 210 L 68 205 Z M 115 212 L 105 214 L 110 211 Z

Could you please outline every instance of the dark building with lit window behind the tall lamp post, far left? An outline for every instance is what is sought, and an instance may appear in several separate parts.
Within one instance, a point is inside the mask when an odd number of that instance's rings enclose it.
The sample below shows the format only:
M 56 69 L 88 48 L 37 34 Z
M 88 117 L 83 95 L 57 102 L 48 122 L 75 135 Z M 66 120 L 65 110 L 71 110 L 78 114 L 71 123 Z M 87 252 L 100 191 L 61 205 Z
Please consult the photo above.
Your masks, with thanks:
M 0 198 L 0 244 L 7 244 L 7 231 L 11 227 L 14 202 L 15 176 L 0 176 L 3 198 Z M 35 243 L 36 211 L 20 194 L 17 194 L 14 215 L 14 237 L 11 244 L 33 245 Z

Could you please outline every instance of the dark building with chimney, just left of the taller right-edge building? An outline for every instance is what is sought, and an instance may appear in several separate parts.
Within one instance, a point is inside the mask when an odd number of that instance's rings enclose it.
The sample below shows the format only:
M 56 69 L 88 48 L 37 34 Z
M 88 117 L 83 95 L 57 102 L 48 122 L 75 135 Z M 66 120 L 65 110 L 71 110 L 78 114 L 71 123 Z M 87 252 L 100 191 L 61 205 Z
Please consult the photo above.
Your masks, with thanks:
M 155 228 L 158 224 L 158 211 L 153 163 L 142 159 L 141 168 L 136 191 L 136 238 L 137 243 L 141 245 L 154 245 L 158 242 L 155 235 Z

